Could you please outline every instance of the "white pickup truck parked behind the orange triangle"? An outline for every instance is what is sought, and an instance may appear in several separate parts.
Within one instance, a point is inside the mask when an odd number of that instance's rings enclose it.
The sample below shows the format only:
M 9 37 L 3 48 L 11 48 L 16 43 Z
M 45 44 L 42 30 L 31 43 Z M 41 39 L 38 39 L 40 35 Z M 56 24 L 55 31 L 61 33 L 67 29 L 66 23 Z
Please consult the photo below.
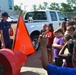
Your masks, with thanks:
M 42 24 L 53 24 L 54 29 L 58 28 L 65 16 L 57 10 L 28 11 L 25 16 L 25 24 L 33 41 L 35 49 L 38 49 L 37 39 L 42 29 Z

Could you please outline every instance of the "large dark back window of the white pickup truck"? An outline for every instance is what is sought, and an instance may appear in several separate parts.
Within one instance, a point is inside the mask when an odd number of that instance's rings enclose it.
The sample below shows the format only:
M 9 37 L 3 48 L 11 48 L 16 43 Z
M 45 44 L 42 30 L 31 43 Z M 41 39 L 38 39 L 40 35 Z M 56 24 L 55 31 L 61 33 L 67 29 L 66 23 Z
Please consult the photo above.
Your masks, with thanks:
M 29 17 L 32 17 L 33 20 L 47 20 L 45 12 L 28 12 L 25 16 L 25 20 L 28 20 Z

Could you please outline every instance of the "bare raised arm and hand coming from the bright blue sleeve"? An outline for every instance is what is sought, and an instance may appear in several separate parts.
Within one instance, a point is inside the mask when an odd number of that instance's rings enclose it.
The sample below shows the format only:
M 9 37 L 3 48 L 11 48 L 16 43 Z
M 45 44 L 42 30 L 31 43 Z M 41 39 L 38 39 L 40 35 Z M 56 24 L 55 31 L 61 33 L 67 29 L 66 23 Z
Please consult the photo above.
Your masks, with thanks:
M 49 64 L 47 49 L 46 49 L 47 44 L 48 44 L 47 36 L 42 35 L 42 37 L 40 38 L 40 50 L 41 50 L 41 57 L 42 57 L 42 65 L 43 65 L 43 68 L 45 68 L 45 69 L 46 69 L 47 65 Z

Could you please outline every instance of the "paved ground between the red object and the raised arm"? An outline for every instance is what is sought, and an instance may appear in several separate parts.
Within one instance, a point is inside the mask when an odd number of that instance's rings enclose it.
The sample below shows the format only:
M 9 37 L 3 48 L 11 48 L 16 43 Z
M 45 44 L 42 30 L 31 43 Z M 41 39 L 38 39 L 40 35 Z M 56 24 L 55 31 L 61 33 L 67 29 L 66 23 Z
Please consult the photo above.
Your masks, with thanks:
M 42 68 L 40 58 L 40 50 L 35 54 L 28 56 L 25 65 L 22 67 L 20 75 L 47 75 L 47 72 Z

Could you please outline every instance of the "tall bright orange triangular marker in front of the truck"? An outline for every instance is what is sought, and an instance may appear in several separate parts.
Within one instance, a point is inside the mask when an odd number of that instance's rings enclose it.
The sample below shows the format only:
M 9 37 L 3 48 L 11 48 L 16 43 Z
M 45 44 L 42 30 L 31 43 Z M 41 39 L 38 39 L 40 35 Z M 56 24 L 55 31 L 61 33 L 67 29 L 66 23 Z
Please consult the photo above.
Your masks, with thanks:
M 35 49 L 33 47 L 32 41 L 30 39 L 28 30 L 26 28 L 26 25 L 21 14 L 19 16 L 19 20 L 17 23 L 17 30 L 13 49 L 19 50 L 26 55 L 33 54 L 35 52 Z

